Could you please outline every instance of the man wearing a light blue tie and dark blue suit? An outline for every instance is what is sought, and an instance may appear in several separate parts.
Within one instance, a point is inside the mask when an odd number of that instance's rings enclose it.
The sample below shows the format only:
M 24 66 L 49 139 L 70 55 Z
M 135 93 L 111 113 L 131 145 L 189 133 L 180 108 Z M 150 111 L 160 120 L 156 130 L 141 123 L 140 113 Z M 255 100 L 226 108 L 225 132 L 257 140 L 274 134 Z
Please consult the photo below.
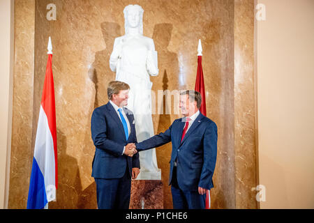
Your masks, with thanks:
M 110 82 L 110 101 L 91 116 L 91 138 L 96 146 L 91 176 L 96 181 L 98 208 L 128 209 L 131 177 L 140 173 L 134 116 L 124 107 L 129 89 L 124 82 Z

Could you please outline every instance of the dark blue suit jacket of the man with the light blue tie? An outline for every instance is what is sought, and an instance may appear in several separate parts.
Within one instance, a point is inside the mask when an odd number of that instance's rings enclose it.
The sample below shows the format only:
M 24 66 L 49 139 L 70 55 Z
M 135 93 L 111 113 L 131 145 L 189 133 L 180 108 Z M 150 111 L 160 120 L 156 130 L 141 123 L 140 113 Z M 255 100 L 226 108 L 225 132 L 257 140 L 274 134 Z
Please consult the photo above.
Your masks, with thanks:
M 133 157 L 122 155 L 126 144 L 137 142 L 133 113 L 126 108 L 124 112 L 131 129 L 128 140 L 124 126 L 110 102 L 94 109 L 91 116 L 91 138 L 96 146 L 91 173 L 94 178 L 121 178 L 126 172 L 126 162 L 130 176 L 133 167 L 140 168 L 138 153 Z

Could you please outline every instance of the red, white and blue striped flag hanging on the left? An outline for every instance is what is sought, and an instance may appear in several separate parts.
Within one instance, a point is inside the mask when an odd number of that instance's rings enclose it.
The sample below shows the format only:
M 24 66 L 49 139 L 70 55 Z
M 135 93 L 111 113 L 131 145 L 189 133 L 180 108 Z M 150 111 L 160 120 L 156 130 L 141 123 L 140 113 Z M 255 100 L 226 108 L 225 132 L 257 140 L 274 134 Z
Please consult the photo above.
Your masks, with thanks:
M 52 76 L 52 44 L 49 38 L 48 61 L 38 117 L 27 209 L 45 208 L 48 202 L 56 199 L 57 175 L 57 128 Z

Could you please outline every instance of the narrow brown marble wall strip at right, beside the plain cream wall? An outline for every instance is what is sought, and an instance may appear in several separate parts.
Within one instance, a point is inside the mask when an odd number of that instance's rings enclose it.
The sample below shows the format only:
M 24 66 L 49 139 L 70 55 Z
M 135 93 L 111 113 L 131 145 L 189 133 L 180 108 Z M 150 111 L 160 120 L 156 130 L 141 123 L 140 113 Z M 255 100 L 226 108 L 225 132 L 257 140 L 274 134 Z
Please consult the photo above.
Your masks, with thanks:
M 244 20 L 244 18 L 248 18 Z M 234 1 L 234 162 L 236 208 L 257 208 L 254 1 Z

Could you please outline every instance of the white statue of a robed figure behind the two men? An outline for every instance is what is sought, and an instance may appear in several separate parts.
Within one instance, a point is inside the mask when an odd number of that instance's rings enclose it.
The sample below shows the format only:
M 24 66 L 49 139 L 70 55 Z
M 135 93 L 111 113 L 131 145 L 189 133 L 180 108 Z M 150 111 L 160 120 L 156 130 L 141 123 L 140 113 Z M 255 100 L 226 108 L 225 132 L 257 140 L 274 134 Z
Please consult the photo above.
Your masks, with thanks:
M 151 86 L 149 75 L 158 75 L 157 52 L 154 40 L 143 36 L 143 12 L 141 6 L 124 8 L 124 36 L 114 40 L 110 56 L 110 69 L 116 72 L 116 80 L 130 85 L 128 109 L 135 115 L 137 141 L 154 135 L 151 118 Z M 137 180 L 160 180 L 155 148 L 140 152 L 140 174 Z

